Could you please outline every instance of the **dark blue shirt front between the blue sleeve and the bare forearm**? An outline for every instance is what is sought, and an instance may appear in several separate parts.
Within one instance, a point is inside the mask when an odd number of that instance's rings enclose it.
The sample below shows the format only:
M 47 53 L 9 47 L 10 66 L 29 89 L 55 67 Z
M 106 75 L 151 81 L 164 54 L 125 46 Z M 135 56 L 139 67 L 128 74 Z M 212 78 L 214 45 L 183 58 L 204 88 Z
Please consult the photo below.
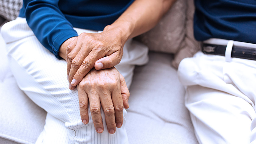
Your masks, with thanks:
M 47 0 L 43 0 L 47 1 Z M 103 30 L 112 24 L 134 0 L 59 0 L 58 7 L 74 26 L 90 30 Z M 50 6 L 51 7 L 51 6 Z M 20 10 L 25 17 L 25 6 Z

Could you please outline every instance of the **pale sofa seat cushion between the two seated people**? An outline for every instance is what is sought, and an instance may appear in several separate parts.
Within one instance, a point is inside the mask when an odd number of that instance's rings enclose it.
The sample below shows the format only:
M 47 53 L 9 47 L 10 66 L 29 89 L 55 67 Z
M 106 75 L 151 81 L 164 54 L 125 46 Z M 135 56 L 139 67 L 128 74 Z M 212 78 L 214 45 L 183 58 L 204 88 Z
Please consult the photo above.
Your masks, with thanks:
M 126 130 L 130 144 L 198 144 L 171 54 L 149 53 L 135 68 Z

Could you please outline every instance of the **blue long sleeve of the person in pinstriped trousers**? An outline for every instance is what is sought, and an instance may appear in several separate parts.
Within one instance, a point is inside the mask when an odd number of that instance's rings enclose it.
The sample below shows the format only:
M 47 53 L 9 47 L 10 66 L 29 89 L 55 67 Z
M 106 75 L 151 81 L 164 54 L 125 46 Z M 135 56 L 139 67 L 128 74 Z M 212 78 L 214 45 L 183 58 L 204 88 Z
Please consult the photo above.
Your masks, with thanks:
M 37 39 L 61 59 L 61 44 L 78 34 L 60 11 L 58 2 L 59 0 L 23 0 L 23 6 L 27 23 Z

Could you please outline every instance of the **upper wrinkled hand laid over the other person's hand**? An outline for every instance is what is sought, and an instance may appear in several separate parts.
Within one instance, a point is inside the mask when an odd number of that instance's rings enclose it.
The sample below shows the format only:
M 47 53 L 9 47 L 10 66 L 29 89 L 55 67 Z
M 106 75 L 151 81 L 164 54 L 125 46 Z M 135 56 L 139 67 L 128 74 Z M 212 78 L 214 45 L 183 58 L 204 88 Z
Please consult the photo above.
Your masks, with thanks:
M 66 49 L 69 89 L 74 89 L 93 67 L 99 70 L 117 65 L 126 40 L 121 30 L 108 26 L 102 33 L 81 33 L 76 37 Z

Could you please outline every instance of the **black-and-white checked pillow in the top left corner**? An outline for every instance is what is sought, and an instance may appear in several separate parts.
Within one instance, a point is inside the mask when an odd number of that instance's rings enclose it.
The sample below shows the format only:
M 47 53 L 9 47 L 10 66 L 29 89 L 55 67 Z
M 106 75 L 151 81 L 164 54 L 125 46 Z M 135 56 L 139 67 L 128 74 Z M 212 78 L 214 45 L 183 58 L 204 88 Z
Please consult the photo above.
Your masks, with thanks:
M 11 21 L 19 16 L 22 0 L 0 0 L 0 16 Z

